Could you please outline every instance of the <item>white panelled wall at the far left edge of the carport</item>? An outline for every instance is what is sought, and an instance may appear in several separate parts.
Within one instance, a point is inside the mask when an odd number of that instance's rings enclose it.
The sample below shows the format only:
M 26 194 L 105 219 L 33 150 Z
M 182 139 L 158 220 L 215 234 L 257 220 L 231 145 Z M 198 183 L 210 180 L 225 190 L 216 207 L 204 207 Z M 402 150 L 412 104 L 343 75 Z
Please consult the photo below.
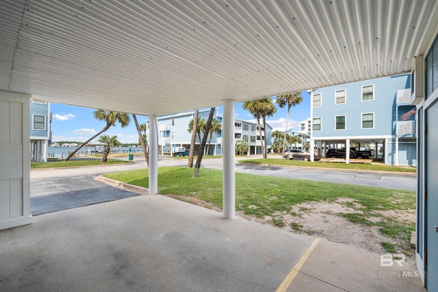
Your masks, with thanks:
M 31 222 L 29 99 L 0 90 L 0 230 Z

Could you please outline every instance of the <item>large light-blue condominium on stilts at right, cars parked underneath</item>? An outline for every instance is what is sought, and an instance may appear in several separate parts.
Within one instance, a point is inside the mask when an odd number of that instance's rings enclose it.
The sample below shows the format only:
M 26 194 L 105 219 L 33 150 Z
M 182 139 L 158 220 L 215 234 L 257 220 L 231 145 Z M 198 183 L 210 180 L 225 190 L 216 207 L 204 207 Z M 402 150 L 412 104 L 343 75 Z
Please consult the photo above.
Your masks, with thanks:
M 311 93 L 311 139 L 322 157 L 350 147 L 388 165 L 417 165 L 415 113 L 411 74 L 318 88 Z

